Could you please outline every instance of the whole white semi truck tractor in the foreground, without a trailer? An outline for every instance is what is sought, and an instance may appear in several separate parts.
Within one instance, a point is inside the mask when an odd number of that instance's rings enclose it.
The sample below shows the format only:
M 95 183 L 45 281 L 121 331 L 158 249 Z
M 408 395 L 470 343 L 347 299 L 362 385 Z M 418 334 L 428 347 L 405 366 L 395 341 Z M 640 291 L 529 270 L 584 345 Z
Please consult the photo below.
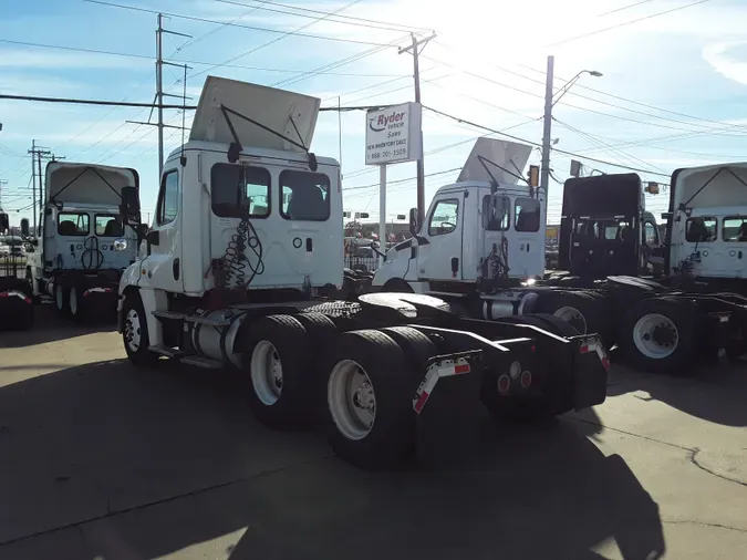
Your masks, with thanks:
M 334 299 L 343 191 L 338 162 L 309 151 L 319 108 L 315 97 L 207 79 L 189 141 L 164 165 L 144 249 L 120 282 L 133 364 L 232 369 L 262 423 L 319 419 L 336 453 L 363 468 L 395 465 L 424 432 L 453 427 L 480 402 L 499 418 L 602 403 L 599 338 L 553 334 L 568 326 L 554 318 L 543 328 L 476 321 L 412 293 Z

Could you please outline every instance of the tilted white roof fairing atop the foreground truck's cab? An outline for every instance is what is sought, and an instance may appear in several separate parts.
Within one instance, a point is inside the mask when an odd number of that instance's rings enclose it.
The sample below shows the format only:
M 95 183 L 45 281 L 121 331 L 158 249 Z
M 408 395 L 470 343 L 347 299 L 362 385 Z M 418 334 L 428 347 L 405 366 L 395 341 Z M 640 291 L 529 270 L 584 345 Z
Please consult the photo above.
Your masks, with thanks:
M 307 148 L 311 146 L 321 100 L 263 85 L 208 76 L 189 132 L 190 141 L 221 144 L 235 142 L 221 105 L 280 135 L 229 112 L 228 117 L 242 147 L 304 152 L 292 142 Z

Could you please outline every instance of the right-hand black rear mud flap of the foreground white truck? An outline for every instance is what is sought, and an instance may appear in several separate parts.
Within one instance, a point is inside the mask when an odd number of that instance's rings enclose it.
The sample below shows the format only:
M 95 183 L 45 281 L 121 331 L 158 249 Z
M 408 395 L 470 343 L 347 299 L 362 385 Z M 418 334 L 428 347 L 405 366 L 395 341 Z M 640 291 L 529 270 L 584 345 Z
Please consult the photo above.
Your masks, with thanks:
M 573 407 L 578 412 L 606 400 L 610 357 L 596 334 L 573 336 L 570 340 L 577 349 Z

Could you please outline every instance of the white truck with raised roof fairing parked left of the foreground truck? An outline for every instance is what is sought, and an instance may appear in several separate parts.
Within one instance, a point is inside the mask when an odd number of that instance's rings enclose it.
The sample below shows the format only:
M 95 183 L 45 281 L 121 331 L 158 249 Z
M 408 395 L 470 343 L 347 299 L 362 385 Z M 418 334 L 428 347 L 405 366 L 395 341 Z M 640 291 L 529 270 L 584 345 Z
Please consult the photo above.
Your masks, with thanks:
M 33 294 L 51 297 L 75 321 L 113 315 L 120 277 L 138 245 L 138 231 L 124 226 L 123 193 L 137 197 L 138 190 L 135 169 L 50 162 L 38 229 L 30 232 L 27 221 L 23 231 L 33 234 L 25 268 Z M 117 250 L 117 242 L 126 248 Z

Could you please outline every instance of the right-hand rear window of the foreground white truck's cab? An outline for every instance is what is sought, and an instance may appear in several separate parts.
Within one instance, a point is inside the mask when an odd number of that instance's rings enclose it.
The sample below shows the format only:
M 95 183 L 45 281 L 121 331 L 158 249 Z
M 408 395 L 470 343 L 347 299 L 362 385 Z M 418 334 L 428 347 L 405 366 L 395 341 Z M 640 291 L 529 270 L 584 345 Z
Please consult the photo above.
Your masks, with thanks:
M 325 221 L 330 218 L 330 178 L 287 169 L 280 174 L 280 215 L 287 220 Z

